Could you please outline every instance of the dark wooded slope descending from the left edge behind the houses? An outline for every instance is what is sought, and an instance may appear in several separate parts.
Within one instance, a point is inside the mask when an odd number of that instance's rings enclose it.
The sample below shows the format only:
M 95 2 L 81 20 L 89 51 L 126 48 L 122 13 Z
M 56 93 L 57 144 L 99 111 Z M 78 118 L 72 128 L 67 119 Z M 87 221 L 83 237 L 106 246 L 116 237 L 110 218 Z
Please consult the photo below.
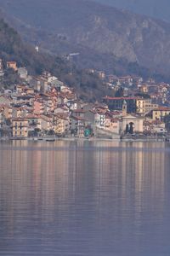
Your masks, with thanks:
M 101 100 L 106 94 L 111 94 L 111 90 L 105 88 L 97 75 L 86 70 L 78 70 L 71 62 L 57 56 L 44 52 L 37 53 L 30 44 L 24 43 L 18 32 L 8 26 L 3 19 L 0 19 L 0 58 L 3 59 L 3 63 L 17 61 L 18 67 L 26 67 L 31 75 L 47 70 L 75 88 L 77 96 L 89 102 Z M 5 84 L 0 79 L 0 89 L 3 85 L 5 88 L 14 85 L 14 73 L 10 74 L 8 79 L 4 79 Z

